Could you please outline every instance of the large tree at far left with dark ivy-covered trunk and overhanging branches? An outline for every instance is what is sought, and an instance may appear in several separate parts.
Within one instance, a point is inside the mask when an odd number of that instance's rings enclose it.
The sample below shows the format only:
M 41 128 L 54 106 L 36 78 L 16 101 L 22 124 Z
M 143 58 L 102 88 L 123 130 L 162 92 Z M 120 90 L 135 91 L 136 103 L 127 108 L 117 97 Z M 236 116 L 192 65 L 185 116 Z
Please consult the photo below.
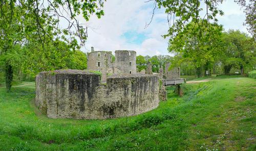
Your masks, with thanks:
M 87 27 L 80 24 L 76 17 L 82 15 L 89 20 L 95 13 L 100 18 L 103 15 L 103 2 L 1 0 L 0 57 L 2 63 L 4 62 L 7 91 L 11 89 L 14 72 L 12 62 L 15 62 L 13 59 L 19 59 L 17 56 L 10 58 L 11 55 L 15 55 L 14 49 L 30 43 L 36 47 L 41 44 L 42 50 L 45 51 L 50 43 L 55 47 L 59 41 L 65 41 L 71 49 L 79 48 L 76 39 L 80 39 L 80 45 L 84 44 L 87 39 Z M 66 21 L 67 28 L 60 28 L 60 20 Z

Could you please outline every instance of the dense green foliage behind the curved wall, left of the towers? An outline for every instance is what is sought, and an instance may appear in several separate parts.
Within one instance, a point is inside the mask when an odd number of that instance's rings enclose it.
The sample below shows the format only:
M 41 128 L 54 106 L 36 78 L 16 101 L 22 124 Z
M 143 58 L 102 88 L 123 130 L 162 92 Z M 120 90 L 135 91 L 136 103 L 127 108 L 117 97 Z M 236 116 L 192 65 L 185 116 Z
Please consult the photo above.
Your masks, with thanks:
M 55 45 L 47 45 L 45 49 L 41 45 L 27 44 L 20 49 L 23 54 L 23 63 L 20 65 L 22 72 L 35 77 L 40 71 L 56 69 L 86 69 L 87 56 L 78 50 L 73 50 L 62 41 L 55 41 Z

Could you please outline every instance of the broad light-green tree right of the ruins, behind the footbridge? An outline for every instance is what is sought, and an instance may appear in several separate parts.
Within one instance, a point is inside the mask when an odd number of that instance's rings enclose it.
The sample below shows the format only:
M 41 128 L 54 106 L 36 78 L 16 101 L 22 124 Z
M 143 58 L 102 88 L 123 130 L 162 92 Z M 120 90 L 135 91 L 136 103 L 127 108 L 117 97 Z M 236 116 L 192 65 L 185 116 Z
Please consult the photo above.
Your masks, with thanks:
M 207 20 L 199 21 L 199 24 L 205 23 Z M 202 29 L 197 22 L 190 22 L 169 40 L 168 51 L 193 62 L 198 77 L 201 77 L 202 69 L 210 70 L 221 54 L 221 32 L 222 27 L 217 23 L 211 23 L 209 27 Z

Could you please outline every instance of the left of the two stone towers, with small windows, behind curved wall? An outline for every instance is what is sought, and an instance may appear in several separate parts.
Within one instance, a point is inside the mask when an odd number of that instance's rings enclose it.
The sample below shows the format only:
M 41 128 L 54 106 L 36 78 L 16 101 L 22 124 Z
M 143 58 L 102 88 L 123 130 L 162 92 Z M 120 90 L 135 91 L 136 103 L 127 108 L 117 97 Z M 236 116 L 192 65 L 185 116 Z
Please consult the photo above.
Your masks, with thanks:
M 102 73 L 101 81 L 103 82 L 106 81 L 107 70 L 110 66 L 112 66 L 111 52 L 97 51 L 87 54 L 88 70 L 100 71 Z

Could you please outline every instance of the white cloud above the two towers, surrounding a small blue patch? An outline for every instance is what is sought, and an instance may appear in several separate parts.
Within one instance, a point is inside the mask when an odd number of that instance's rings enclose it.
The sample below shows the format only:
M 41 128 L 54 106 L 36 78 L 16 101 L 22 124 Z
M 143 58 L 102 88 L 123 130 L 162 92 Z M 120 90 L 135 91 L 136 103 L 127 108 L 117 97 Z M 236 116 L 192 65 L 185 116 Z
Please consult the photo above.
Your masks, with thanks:
M 166 19 L 166 15 L 157 11 L 151 25 L 144 29 L 146 22 L 151 19 L 153 3 L 144 3 L 138 0 L 111 0 L 106 1 L 104 5 L 105 15 L 98 19 L 93 16 L 89 22 L 79 21 L 88 24 L 89 38 L 86 48 L 83 51 L 90 51 L 94 46 L 96 50 L 115 51 L 117 49 L 135 50 L 138 55 L 156 55 L 156 51 L 167 54 L 167 40 L 161 35 L 168 30 L 167 22 L 157 22 L 155 19 Z M 126 32 L 135 31 L 142 34 L 144 41 L 141 43 L 131 43 L 132 39 L 126 39 L 122 36 Z M 154 43 L 148 41 L 155 39 Z

